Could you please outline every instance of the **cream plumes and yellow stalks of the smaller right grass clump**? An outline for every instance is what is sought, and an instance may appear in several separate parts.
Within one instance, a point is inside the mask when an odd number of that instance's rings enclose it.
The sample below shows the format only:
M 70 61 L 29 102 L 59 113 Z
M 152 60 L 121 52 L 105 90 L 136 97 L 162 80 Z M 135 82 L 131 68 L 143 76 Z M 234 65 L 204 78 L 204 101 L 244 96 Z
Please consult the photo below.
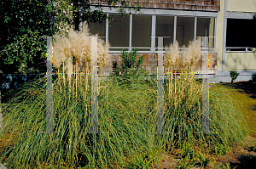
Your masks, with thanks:
M 201 39 L 196 39 L 195 42 L 191 41 L 189 42 L 188 48 L 185 48 L 183 46 L 183 49 L 180 53 L 178 49 L 178 42 L 176 41 L 174 44 L 171 44 L 169 47 L 166 46 L 166 54 L 165 54 L 165 60 L 164 64 L 165 67 L 168 70 L 169 74 L 169 80 L 168 80 L 168 100 L 171 102 L 173 101 L 174 109 L 177 109 L 177 102 L 181 98 L 184 97 L 185 93 L 178 93 L 183 91 L 183 87 L 186 85 L 179 84 L 182 81 L 177 80 L 176 73 L 191 73 L 195 71 L 195 64 L 199 61 L 201 58 Z M 171 72 L 170 72 L 171 70 Z M 192 85 L 192 82 L 195 75 L 190 76 L 180 76 L 182 79 L 184 78 L 184 81 L 189 82 L 191 85 L 189 87 L 195 87 L 195 85 Z M 188 78 L 185 78 L 188 77 Z M 186 83 L 184 83 L 186 84 Z M 181 86 L 180 86 L 181 85 Z M 182 87 L 182 88 L 178 88 Z M 190 91 L 195 90 L 195 88 L 189 88 Z

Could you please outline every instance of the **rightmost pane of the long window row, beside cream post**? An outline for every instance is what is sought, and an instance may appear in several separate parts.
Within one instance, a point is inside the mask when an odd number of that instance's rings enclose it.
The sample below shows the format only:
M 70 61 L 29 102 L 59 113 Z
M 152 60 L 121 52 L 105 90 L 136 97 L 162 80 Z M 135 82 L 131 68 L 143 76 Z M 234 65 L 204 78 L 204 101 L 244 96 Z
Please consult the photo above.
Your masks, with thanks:
M 213 48 L 214 42 L 214 18 L 197 18 L 196 37 L 209 37 L 209 48 Z

